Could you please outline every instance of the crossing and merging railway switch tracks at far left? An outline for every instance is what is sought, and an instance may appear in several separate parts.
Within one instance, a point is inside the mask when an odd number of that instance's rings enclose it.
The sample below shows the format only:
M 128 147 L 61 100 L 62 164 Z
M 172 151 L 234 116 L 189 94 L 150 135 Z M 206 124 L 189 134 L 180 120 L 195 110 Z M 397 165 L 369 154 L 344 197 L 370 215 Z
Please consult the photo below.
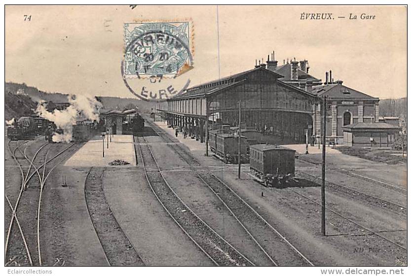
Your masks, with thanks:
M 39 155 L 39 153 L 48 145 L 43 144 L 41 146 L 38 147 L 38 149 L 36 150 L 36 153 L 34 153 L 33 157 L 30 158 L 27 153 L 26 150 L 28 149 L 29 146 L 27 146 L 24 150 L 21 150 L 21 146 L 28 143 L 29 141 L 26 141 L 24 143 L 21 143 L 19 145 L 19 142 L 16 142 L 16 147 L 14 148 L 14 150 L 11 150 L 11 141 L 8 142 L 8 148 L 9 151 L 14 159 L 14 161 L 17 163 L 20 173 L 21 173 L 21 184 L 20 184 L 20 190 L 19 190 L 19 194 L 17 195 L 17 199 L 15 204 L 13 205 L 11 203 L 11 201 L 9 200 L 8 196 L 5 194 L 5 198 L 7 200 L 8 206 L 10 208 L 10 211 L 12 212 L 12 216 L 10 218 L 10 222 L 9 222 L 9 226 L 8 226 L 8 231 L 7 231 L 7 236 L 6 236 L 6 242 L 5 242 L 5 247 L 4 247 L 4 255 L 5 255 L 5 259 L 7 258 L 7 254 L 8 254 L 8 250 L 10 248 L 10 241 L 11 241 L 11 232 L 12 232 L 12 228 L 14 225 L 14 222 L 16 223 L 17 227 L 19 228 L 19 232 L 20 232 L 20 236 L 21 239 L 25 245 L 25 250 L 26 250 L 26 256 L 30 262 L 30 265 L 37 265 L 35 261 L 38 262 L 38 265 L 42 265 L 42 261 L 41 261 L 41 250 L 40 250 L 40 211 L 41 211 L 41 195 L 42 195 L 42 191 L 43 191 L 43 187 L 46 184 L 46 181 L 48 179 L 48 177 L 50 176 L 50 174 L 52 173 L 52 171 L 54 170 L 54 168 L 63 160 L 57 160 L 57 162 L 54 164 L 54 166 L 52 168 L 49 168 L 49 170 L 46 172 L 46 166 L 48 163 L 52 162 L 53 160 L 56 160 L 56 158 L 58 156 L 61 156 L 62 153 L 66 152 L 67 150 L 69 150 L 71 147 L 74 146 L 74 144 L 69 145 L 68 147 L 66 147 L 65 149 L 63 149 L 61 152 L 55 154 L 53 157 L 47 159 L 49 150 L 52 146 L 50 146 L 47 150 L 47 152 L 45 153 L 45 156 L 40 158 L 41 161 L 41 165 L 40 166 L 36 166 L 36 160 L 37 160 L 37 156 Z M 20 156 L 17 155 L 17 151 L 21 154 Z M 19 160 L 25 160 L 28 165 L 29 168 L 27 169 L 27 172 L 24 171 L 24 166 L 22 164 L 22 162 L 20 162 Z M 42 172 L 40 172 L 40 169 L 43 168 Z M 33 178 L 34 175 L 37 174 L 38 177 L 38 191 L 27 191 L 29 182 L 31 181 L 31 179 Z M 36 194 L 36 192 L 38 192 L 38 194 Z M 29 193 L 28 195 L 26 195 L 27 193 Z M 35 196 L 35 198 L 33 198 L 33 196 Z M 21 205 L 21 202 L 25 201 L 24 205 L 25 208 L 28 208 L 29 212 L 27 213 L 27 217 L 25 217 L 25 223 L 21 224 L 21 221 L 19 221 L 18 217 L 17 217 L 17 212 L 18 212 L 18 208 Z M 33 204 L 36 204 L 36 208 L 32 208 Z M 33 213 L 32 211 L 35 211 L 35 213 Z M 33 220 L 36 221 L 36 225 L 33 225 L 34 223 L 32 222 Z M 36 229 L 35 233 L 32 232 L 32 229 Z M 24 233 L 26 232 L 26 234 Z M 29 238 L 30 237 L 30 238 Z M 36 237 L 36 238 L 35 238 Z M 29 239 L 28 239 L 29 238 Z M 36 240 L 36 241 L 34 241 Z M 17 241 L 15 241 L 17 242 Z M 32 248 L 32 250 L 30 249 L 30 247 Z M 33 249 L 37 247 L 37 249 Z M 33 252 L 36 251 L 36 254 L 33 254 Z

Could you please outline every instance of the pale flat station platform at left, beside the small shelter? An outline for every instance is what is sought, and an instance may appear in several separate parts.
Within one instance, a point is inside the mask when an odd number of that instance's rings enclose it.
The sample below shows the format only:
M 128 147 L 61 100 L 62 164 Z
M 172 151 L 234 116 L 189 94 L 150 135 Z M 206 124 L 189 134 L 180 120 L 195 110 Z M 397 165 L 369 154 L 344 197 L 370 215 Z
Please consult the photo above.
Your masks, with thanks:
M 132 135 L 113 135 L 112 142 L 109 140 L 109 149 L 107 148 L 107 139 L 105 140 L 105 157 L 103 155 L 103 142 L 100 137 L 88 141 L 83 145 L 64 166 L 71 167 L 106 167 L 110 162 L 116 159 L 129 162 L 129 165 L 117 165 L 113 167 L 135 166 L 136 156 L 134 153 Z

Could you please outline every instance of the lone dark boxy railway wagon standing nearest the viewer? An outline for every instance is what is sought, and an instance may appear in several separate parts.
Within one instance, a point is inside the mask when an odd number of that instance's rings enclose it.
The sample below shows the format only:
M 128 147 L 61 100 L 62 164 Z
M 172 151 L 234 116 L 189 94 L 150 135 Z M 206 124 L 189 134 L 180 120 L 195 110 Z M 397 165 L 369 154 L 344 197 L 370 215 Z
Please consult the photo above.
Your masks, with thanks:
M 250 174 L 265 186 L 295 177 L 295 150 L 270 144 L 250 146 Z

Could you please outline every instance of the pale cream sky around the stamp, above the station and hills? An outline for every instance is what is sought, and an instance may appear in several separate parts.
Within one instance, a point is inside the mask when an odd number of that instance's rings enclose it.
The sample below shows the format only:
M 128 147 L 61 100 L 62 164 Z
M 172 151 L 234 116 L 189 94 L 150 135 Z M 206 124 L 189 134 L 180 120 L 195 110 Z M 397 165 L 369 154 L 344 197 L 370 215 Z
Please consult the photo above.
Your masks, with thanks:
M 302 13 L 335 19 L 301 20 Z M 211 81 L 252 69 L 275 51 L 279 65 L 306 59 L 317 78 L 332 70 L 352 89 L 399 98 L 407 96 L 406 16 L 405 6 L 7 5 L 5 80 L 46 92 L 133 97 L 120 73 L 123 24 L 189 21 L 193 69 L 156 84 L 129 80 L 133 90 Z

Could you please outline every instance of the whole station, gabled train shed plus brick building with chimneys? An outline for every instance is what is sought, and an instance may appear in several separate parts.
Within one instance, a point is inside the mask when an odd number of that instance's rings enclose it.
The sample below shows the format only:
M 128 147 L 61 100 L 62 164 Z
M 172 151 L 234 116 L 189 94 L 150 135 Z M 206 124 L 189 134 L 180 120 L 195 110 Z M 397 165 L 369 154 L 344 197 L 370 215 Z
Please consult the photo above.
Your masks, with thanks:
M 357 122 L 378 122 L 378 98 L 334 81 L 309 74 L 308 61 L 288 61 L 278 66 L 274 54 L 266 64 L 203 83 L 167 100 L 162 110 L 169 126 L 187 127 L 205 142 L 208 130 L 237 126 L 255 127 L 271 144 L 305 143 L 305 130 L 320 140 L 321 104 L 327 97 L 328 140 L 343 143 L 343 127 Z

